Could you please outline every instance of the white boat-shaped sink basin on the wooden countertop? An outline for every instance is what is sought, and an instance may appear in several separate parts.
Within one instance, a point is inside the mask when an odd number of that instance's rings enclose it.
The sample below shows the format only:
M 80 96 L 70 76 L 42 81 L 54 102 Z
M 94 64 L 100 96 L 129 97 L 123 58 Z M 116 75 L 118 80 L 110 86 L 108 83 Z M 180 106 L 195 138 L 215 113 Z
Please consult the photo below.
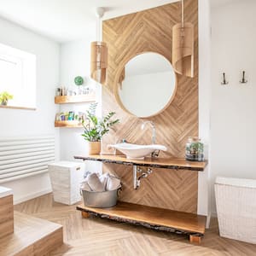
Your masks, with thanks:
M 108 148 L 116 148 L 126 155 L 128 159 L 143 160 L 145 156 L 154 152 L 154 150 L 167 151 L 167 148 L 163 145 L 151 144 L 151 145 L 137 145 L 131 143 L 118 143 L 114 145 L 108 145 Z

